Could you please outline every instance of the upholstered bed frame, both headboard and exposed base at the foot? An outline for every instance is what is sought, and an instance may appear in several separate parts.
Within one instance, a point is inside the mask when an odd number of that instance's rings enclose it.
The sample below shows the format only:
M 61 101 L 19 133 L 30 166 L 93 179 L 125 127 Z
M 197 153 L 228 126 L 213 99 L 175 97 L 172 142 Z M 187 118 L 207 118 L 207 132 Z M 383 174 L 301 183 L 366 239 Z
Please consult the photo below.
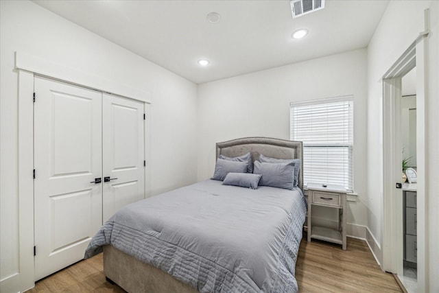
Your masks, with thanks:
M 248 152 L 252 154 L 252 161 L 258 160 L 259 154 L 276 159 L 303 158 L 301 141 L 246 137 L 216 144 L 216 157 L 220 154 L 241 156 Z M 303 160 L 300 164 L 298 185 L 303 190 Z M 104 246 L 104 274 L 107 281 L 117 283 L 130 293 L 199 293 L 167 272 L 143 263 L 110 245 Z

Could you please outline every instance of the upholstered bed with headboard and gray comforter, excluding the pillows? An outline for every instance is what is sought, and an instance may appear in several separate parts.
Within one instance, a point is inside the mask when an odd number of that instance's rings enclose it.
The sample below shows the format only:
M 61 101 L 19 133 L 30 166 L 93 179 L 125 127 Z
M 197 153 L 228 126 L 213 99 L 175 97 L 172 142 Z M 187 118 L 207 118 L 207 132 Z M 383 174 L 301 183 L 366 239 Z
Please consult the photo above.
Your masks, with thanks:
M 263 137 L 217 143 L 214 177 L 221 158 L 249 153 L 252 162 L 302 161 L 302 143 Z M 99 229 L 85 258 L 103 250 L 106 278 L 128 292 L 297 292 L 307 209 L 302 163 L 297 167 L 291 189 L 210 179 L 130 204 Z

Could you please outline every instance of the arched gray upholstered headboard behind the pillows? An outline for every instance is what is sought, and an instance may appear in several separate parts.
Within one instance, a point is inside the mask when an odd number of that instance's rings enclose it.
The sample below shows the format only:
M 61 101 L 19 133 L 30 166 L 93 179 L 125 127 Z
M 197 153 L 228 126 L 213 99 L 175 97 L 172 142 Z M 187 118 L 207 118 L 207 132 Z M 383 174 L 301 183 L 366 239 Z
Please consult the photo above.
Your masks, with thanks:
M 217 158 L 224 156 L 241 156 L 250 152 L 252 161 L 259 160 L 259 155 L 276 159 L 300 159 L 299 187 L 303 190 L 303 148 L 302 141 L 286 141 L 268 137 L 245 137 L 217 143 Z

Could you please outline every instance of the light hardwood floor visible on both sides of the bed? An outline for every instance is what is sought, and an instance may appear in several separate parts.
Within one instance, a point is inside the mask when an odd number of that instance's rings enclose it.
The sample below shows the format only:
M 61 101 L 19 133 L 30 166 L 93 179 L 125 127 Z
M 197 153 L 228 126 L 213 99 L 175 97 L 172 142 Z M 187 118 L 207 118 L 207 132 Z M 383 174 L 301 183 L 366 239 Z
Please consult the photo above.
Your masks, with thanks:
M 341 246 L 304 239 L 296 263 L 299 292 L 402 292 L 392 274 L 381 271 L 366 242 L 348 238 L 343 251 Z M 125 291 L 106 281 L 101 253 L 38 281 L 27 292 Z

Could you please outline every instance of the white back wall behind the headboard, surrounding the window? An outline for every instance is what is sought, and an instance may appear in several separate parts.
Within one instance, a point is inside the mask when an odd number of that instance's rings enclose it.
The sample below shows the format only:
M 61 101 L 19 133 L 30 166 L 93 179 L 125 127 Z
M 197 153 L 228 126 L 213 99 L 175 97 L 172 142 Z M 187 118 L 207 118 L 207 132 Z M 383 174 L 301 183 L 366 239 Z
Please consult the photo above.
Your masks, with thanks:
M 366 49 L 198 86 L 198 180 L 215 168 L 215 143 L 239 137 L 289 139 L 289 103 L 354 95 L 357 202 L 348 223 L 366 226 Z

